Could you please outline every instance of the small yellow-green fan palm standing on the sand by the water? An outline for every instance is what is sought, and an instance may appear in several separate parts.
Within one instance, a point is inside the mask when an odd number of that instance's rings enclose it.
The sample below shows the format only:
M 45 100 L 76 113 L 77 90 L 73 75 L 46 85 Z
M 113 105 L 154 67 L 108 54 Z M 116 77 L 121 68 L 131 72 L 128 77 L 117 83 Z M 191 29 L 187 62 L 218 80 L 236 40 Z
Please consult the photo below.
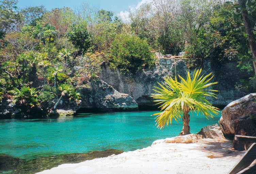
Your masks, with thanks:
M 189 72 L 187 74 L 187 80 L 181 79 L 181 82 L 172 78 L 165 78 L 166 85 L 161 85 L 161 87 L 155 87 L 154 91 L 158 92 L 158 94 L 152 94 L 154 99 L 157 99 L 155 102 L 161 104 L 160 113 L 156 113 L 153 115 L 158 115 L 156 118 L 156 122 L 158 127 L 163 128 L 165 124 L 168 126 L 169 121 L 172 123 L 172 119 L 178 122 L 182 115 L 183 128 L 179 135 L 187 135 L 190 134 L 190 126 L 189 126 L 189 112 L 196 111 L 198 114 L 205 115 L 207 119 L 209 117 L 214 117 L 215 114 L 218 114 L 218 108 L 211 106 L 211 104 L 205 99 L 205 96 L 215 97 L 215 94 L 209 90 L 205 89 L 210 85 L 217 84 L 217 82 L 208 83 L 212 78 L 211 73 L 203 77 L 199 77 L 202 69 L 195 70 L 193 74 L 193 78 L 190 78 Z

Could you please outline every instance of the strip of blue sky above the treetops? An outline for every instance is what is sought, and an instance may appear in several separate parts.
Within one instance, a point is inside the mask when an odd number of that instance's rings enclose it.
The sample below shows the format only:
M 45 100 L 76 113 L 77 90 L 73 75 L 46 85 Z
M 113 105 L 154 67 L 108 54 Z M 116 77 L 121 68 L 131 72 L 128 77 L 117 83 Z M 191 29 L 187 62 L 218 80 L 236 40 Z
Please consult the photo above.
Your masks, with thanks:
M 129 6 L 135 8 L 141 1 L 145 0 L 19 0 L 17 6 L 23 8 L 26 6 L 44 5 L 47 10 L 65 6 L 75 9 L 75 7 L 79 7 L 82 2 L 89 2 L 90 6 L 111 10 L 117 15 L 121 11 L 125 12 L 126 10 L 129 10 Z

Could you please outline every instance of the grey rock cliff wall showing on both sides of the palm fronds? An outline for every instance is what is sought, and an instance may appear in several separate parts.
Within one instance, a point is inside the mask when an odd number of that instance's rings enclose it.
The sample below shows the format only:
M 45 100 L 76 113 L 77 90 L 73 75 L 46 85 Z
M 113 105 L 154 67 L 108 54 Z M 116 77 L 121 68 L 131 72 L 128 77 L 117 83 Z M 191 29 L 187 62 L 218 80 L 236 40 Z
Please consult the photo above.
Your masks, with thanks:
M 237 62 L 226 62 L 223 65 L 218 65 L 212 60 L 207 60 L 202 63 L 203 73 L 208 74 L 213 72 L 214 78 L 212 82 L 219 82 L 212 85 L 211 88 L 218 90 L 216 92 L 217 99 L 208 97 L 207 100 L 220 107 L 224 107 L 230 102 L 237 100 L 249 94 L 250 92 L 241 91 L 236 88 L 236 84 L 240 83 L 240 79 L 248 79 L 250 74 L 240 72 L 236 67 Z M 159 63 L 150 70 L 143 70 L 134 75 L 123 74 L 118 69 L 112 70 L 107 63 L 102 63 L 101 80 L 111 85 L 118 92 L 129 94 L 139 105 L 139 108 L 157 108 L 150 97 L 154 93 L 154 86 L 158 86 L 157 82 L 163 83 L 163 78 L 170 76 L 175 77 L 175 74 L 186 77 L 186 71 L 189 70 L 184 60 L 173 61 L 160 60 Z M 190 74 L 193 74 L 194 69 L 190 69 Z M 175 73 L 176 72 L 176 73 Z

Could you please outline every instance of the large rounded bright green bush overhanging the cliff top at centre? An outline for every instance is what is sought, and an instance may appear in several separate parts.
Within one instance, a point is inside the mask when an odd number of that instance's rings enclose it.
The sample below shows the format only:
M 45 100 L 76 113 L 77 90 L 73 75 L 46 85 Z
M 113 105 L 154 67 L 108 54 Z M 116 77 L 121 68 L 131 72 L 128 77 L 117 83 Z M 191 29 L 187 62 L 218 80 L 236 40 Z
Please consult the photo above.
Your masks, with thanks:
M 152 67 L 155 59 L 146 40 L 126 33 L 116 35 L 110 47 L 108 60 L 112 68 L 136 73 L 142 68 Z

